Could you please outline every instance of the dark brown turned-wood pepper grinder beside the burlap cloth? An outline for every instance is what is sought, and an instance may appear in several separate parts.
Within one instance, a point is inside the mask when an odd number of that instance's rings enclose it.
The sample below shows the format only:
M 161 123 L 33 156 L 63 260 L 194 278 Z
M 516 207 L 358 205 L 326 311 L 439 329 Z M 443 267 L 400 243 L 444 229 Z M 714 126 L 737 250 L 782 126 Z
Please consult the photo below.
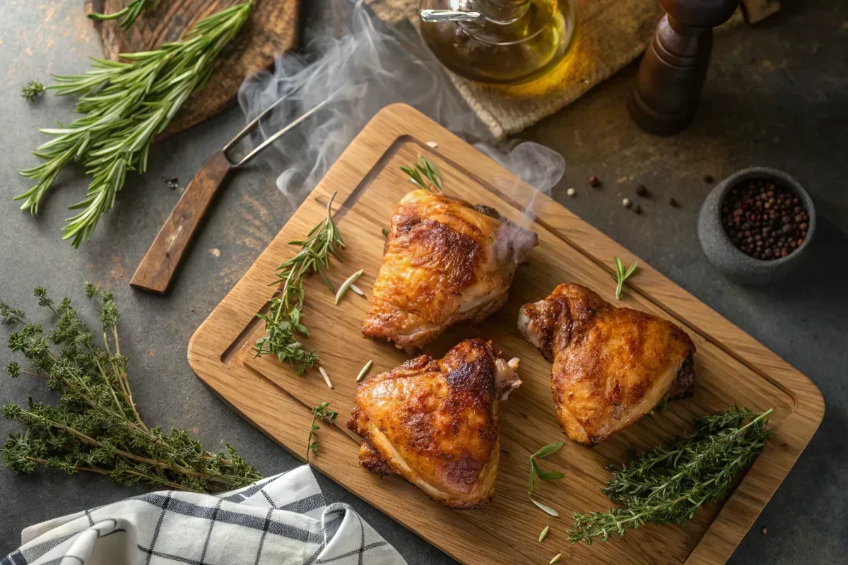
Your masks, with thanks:
M 734 14 L 739 0 L 660 0 L 666 15 L 639 64 L 628 112 L 643 130 L 670 136 L 698 111 L 712 51 L 712 28 Z

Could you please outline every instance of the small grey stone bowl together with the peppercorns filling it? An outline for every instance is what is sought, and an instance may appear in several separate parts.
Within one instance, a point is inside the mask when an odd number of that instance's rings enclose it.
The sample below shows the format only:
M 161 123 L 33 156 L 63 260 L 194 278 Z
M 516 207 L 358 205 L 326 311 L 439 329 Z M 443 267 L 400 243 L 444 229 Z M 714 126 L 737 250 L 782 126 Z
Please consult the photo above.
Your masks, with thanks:
M 806 255 L 816 212 L 809 193 L 778 169 L 742 169 L 722 180 L 700 208 L 706 257 L 743 284 L 784 277 Z

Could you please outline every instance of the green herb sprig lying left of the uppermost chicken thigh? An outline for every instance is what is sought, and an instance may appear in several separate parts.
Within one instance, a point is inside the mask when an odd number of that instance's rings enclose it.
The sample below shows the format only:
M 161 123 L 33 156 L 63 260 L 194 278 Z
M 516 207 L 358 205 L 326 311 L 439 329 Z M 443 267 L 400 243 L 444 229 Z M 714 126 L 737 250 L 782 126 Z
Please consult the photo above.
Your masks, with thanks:
M 301 246 L 293 258 L 282 263 L 276 269 L 277 279 L 271 285 L 282 285 L 280 295 L 271 299 L 271 308 L 267 314 L 256 314 L 265 321 L 265 335 L 256 341 L 256 357 L 270 353 L 276 355 L 279 363 L 288 362 L 304 374 L 318 360 L 318 353 L 305 352 L 303 344 L 296 334 L 309 337 L 310 330 L 300 323 L 304 307 L 304 277 L 318 273 L 331 292 L 335 290 L 327 279 L 324 270 L 330 266 L 330 257 L 338 259 L 336 252 L 344 249 L 342 235 L 332 221 L 332 193 L 326 203 L 326 219 L 312 228 L 304 241 L 290 241 L 289 245 Z

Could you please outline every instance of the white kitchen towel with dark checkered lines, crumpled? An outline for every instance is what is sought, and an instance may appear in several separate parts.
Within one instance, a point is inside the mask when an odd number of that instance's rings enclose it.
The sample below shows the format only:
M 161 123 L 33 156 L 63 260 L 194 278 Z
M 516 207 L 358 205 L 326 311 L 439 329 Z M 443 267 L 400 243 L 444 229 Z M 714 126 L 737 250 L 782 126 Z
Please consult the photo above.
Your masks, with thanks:
M 308 465 L 217 496 L 167 490 L 31 526 L 0 565 L 405 565 Z

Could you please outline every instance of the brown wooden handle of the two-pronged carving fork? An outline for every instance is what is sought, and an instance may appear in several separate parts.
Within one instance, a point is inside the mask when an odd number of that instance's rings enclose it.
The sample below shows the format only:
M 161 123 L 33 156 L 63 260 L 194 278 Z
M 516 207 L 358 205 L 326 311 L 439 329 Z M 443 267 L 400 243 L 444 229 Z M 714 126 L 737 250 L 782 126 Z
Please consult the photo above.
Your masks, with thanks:
M 160 293 L 168 290 L 170 280 L 192 242 L 194 231 L 230 169 L 224 152 L 215 152 L 206 159 L 142 258 L 142 263 L 132 275 L 131 286 Z

